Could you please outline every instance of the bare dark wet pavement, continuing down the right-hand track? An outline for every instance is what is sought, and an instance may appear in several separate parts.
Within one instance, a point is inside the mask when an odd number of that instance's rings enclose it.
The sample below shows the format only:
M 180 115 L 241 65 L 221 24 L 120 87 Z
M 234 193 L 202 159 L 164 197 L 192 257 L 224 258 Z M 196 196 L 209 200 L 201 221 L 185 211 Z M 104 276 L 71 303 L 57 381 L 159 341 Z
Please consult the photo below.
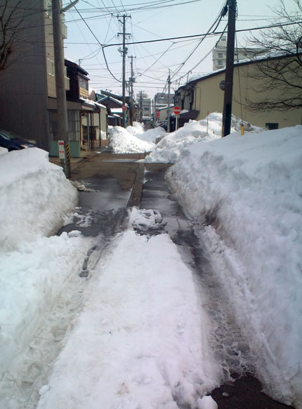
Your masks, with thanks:
M 236 325 L 230 301 L 211 268 L 209 257 L 202 249 L 195 226 L 169 192 L 164 178 L 169 165 L 136 162 L 143 157 L 143 154 L 116 155 L 102 152 L 79 163 L 73 170 L 71 180 L 79 186 L 83 184 L 84 190 L 79 191 L 77 216 L 60 232 L 77 229 L 85 236 L 96 237 L 80 277 L 88 277 L 89 269 L 96 265 L 103 248 L 115 234 L 126 229 L 131 206 L 158 210 L 165 224 L 164 232 L 169 233 L 185 263 L 192 269 L 203 308 L 212 322 L 211 342 L 216 358 L 221 361 L 225 381 L 220 388 L 211 392 L 218 407 L 289 408 L 263 394 L 261 385 L 251 375 L 253 365 L 249 345 Z M 152 229 L 144 234 L 162 232 L 162 229 Z M 230 382 L 230 377 L 235 382 Z M 179 407 L 185 409 L 184 406 Z

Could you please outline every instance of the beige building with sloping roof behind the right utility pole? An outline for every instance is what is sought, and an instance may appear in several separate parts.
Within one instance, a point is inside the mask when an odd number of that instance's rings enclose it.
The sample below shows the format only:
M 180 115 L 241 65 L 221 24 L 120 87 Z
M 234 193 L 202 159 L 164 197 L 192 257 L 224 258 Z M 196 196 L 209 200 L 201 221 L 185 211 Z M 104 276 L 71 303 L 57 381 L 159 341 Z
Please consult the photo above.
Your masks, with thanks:
M 290 127 L 302 123 L 301 108 L 289 109 L 287 111 L 278 111 L 272 108 L 270 111 L 261 112 L 256 112 L 249 108 L 249 101 L 257 101 L 260 99 L 262 97 L 261 93 L 263 89 L 265 89 L 265 78 L 261 80 L 255 79 L 258 64 L 266 64 L 268 61 L 280 60 L 281 58 L 286 58 L 289 63 L 292 56 L 263 58 L 263 60 L 235 64 L 232 113 L 237 118 L 241 118 L 251 123 L 251 125 L 267 127 L 268 129 Z M 285 61 L 285 63 L 287 63 L 287 61 Z M 296 81 L 301 82 L 300 78 L 301 75 L 297 75 Z M 206 118 L 208 113 L 223 112 L 224 95 L 219 87 L 223 80 L 225 80 L 225 70 L 220 70 L 209 75 L 204 75 L 197 80 L 192 80 L 176 91 L 175 105 L 183 109 L 183 113 L 180 113 L 180 124 L 183 125 L 184 122 L 188 122 L 190 119 L 202 120 Z M 287 96 L 292 96 L 293 92 L 293 89 L 289 87 L 287 91 L 284 90 L 282 95 L 284 99 L 286 99 Z M 280 96 L 280 90 L 277 89 L 277 84 L 275 89 L 272 87 L 272 89 L 267 92 L 266 96 L 270 96 L 271 99 Z

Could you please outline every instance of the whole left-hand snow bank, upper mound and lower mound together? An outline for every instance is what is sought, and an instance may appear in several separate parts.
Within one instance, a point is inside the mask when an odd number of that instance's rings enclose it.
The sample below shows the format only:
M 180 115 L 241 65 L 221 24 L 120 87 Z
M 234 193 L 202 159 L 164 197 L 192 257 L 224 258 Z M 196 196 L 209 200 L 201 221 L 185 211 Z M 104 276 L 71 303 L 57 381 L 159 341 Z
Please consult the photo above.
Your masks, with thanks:
M 5 382 L 15 376 L 14 358 L 28 348 L 68 277 L 81 268 L 88 241 L 75 232 L 45 237 L 63 225 L 77 202 L 77 190 L 62 168 L 48 163 L 48 153 L 37 148 L 4 153 L 0 173 L 0 379 Z

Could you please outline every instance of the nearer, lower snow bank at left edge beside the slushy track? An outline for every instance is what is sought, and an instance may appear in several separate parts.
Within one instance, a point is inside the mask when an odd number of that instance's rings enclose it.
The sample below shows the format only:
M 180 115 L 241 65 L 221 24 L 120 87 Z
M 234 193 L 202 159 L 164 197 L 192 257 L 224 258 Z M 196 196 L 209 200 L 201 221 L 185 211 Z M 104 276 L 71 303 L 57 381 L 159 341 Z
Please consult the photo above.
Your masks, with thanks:
M 69 277 L 81 270 L 87 250 L 88 241 L 70 232 L 0 256 L 0 379 L 28 348 Z

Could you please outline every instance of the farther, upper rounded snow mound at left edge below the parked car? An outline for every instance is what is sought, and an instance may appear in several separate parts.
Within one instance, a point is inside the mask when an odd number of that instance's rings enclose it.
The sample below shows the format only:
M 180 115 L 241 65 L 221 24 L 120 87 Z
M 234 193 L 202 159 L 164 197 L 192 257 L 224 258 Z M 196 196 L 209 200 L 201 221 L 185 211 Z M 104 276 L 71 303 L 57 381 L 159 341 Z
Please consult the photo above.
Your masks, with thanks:
M 77 190 L 46 151 L 22 149 L 0 158 L 0 251 L 7 251 L 58 231 L 77 203 Z

